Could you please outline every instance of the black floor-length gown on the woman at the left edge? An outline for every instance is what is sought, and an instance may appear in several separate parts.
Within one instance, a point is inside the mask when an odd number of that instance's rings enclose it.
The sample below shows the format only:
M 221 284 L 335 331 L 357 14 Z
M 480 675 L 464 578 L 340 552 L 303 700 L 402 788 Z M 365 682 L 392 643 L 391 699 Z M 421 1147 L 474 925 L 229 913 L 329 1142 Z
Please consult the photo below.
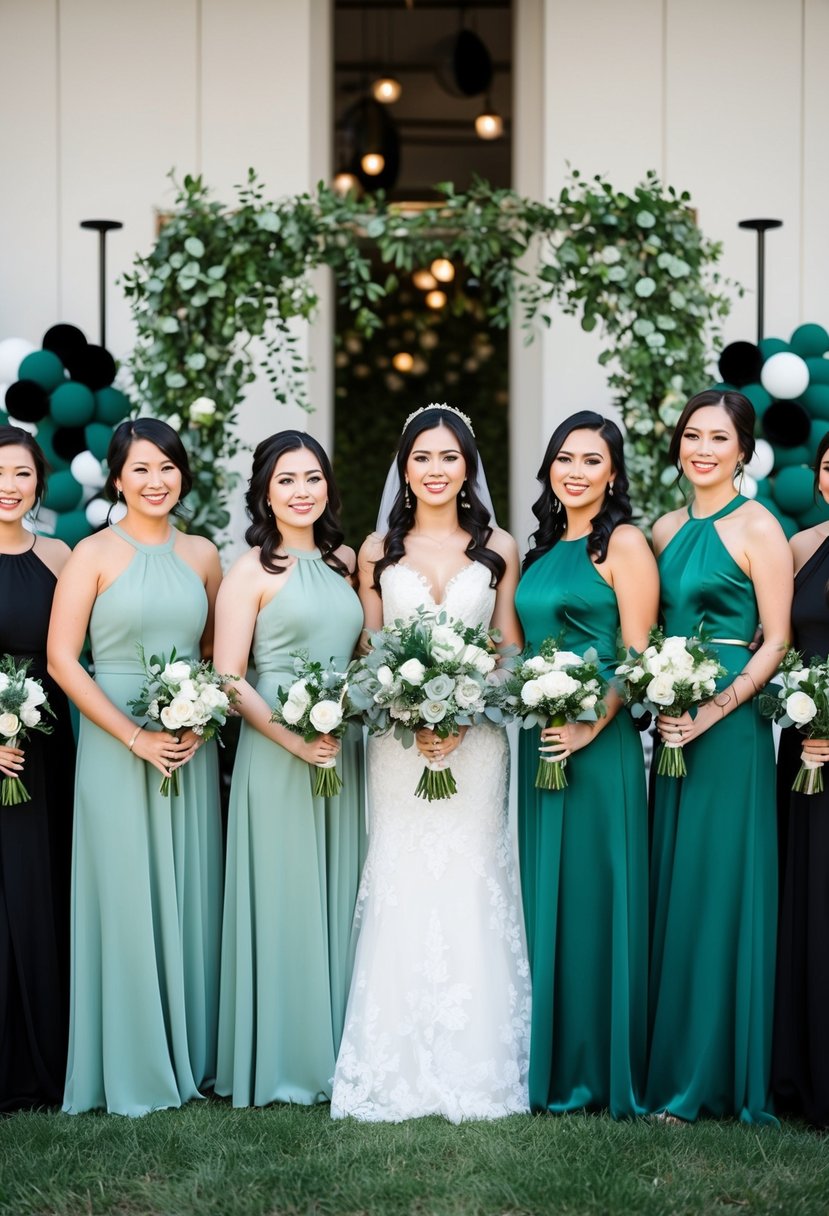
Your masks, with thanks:
M 0 1110 L 56 1105 L 69 1008 L 69 863 L 75 745 L 46 672 L 56 579 L 36 552 L 0 553 L 0 654 L 30 659 L 55 717 L 22 741 L 30 801 L 0 807 Z M 0 781 L 2 775 L 0 773 Z

